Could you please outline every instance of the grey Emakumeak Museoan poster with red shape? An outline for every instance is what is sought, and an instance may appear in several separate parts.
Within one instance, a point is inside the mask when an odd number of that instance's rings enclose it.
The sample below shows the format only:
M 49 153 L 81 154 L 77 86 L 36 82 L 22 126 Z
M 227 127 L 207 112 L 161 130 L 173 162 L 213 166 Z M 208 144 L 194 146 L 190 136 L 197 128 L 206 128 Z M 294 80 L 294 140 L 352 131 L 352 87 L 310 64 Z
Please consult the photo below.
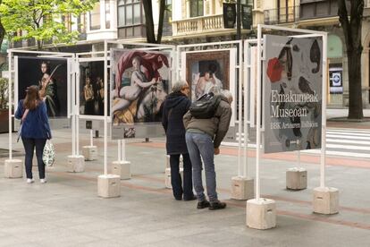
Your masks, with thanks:
M 321 148 L 322 41 L 265 36 L 265 153 Z

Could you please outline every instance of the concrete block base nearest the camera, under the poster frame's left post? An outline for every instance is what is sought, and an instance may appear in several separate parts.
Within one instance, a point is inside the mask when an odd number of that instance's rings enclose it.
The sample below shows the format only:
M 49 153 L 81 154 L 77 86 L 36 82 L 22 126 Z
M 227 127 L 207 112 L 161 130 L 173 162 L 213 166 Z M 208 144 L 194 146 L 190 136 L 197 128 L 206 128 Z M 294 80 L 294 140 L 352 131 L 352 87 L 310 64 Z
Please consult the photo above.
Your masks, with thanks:
M 275 227 L 275 201 L 265 198 L 247 200 L 247 226 L 260 230 Z

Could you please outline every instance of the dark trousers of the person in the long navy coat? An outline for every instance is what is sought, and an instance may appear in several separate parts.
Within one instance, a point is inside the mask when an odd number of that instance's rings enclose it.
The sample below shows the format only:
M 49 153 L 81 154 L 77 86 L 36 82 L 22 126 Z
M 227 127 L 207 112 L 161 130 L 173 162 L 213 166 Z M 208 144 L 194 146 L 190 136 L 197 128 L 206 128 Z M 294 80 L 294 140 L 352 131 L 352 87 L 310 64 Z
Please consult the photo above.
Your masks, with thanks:
M 191 174 L 191 161 L 189 154 L 181 154 L 183 162 L 183 186 L 181 186 L 181 175 L 180 175 L 180 154 L 170 155 L 170 166 L 171 166 L 171 183 L 173 196 L 180 200 L 182 193 L 184 194 L 184 200 L 191 199 L 193 197 L 193 180 Z

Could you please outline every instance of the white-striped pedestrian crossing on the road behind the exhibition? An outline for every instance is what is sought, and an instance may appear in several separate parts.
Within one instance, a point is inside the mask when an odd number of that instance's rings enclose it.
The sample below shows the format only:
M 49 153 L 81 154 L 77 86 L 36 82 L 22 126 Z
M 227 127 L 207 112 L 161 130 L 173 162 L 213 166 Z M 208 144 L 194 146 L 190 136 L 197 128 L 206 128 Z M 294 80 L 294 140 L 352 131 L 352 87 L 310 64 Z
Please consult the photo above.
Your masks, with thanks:
M 237 141 L 239 135 L 237 133 Z M 242 137 L 242 141 L 244 138 Z M 238 143 L 228 143 L 238 146 Z M 251 140 L 248 148 L 255 149 L 256 141 Z M 321 149 L 302 150 L 302 153 L 319 154 Z M 351 158 L 370 158 L 370 130 L 359 129 L 327 129 L 326 155 Z

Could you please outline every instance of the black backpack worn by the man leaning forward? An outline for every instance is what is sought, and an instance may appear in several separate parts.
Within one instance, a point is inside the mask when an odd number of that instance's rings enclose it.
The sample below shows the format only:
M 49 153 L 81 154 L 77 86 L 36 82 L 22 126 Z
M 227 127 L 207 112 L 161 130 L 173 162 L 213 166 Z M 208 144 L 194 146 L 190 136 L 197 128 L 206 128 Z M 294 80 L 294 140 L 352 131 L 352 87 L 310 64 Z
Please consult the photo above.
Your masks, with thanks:
M 191 104 L 190 114 L 200 119 L 211 118 L 214 116 L 220 102 L 220 96 L 215 96 L 213 92 L 206 93 Z

